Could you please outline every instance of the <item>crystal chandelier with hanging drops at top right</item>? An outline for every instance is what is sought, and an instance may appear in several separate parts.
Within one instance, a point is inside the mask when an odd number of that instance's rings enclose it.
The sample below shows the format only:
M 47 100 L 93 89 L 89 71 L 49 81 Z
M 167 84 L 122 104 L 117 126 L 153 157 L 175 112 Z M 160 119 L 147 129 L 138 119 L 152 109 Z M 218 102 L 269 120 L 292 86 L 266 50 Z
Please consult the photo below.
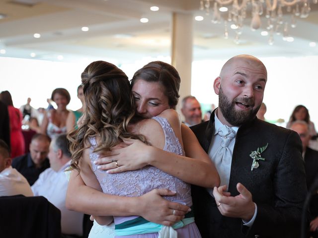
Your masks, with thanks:
M 293 41 L 294 38 L 289 35 L 289 28 L 296 27 L 296 18 L 306 18 L 310 13 L 311 0 L 200 0 L 200 10 L 205 11 L 207 15 L 212 12 L 212 22 L 221 23 L 224 19 L 225 31 L 224 37 L 228 39 L 228 25 L 235 30 L 235 43 L 239 44 L 239 36 L 242 34 L 243 20 L 250 12 L 250 27 L 255 31 L 261 26 L 261 15 L 267 19 L 267 32 L 269 32 L 268 43 L 273 45 L 274 33 L 283 36 L 285 41 Z M 318 0 L 312 0 L 317 4 Z M 227 16 L 222 17 L 222 12 Z M 285 17 L 284 17 L 285 14 Z M 290 15 L 290 17 L 286 17 Z M 267 33 L 268 34 L 268 33 Z

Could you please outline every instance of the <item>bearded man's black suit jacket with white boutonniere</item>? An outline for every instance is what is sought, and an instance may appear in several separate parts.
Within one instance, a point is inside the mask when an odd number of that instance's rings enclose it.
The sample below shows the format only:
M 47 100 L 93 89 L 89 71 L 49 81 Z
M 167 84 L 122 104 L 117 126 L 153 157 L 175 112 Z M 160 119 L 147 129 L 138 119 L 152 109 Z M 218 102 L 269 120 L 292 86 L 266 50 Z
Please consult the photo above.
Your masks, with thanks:
M 209 121 L 192 126 L 208 152 L 214 133 L 214 113 Z M 265 161 L 251 171 L 252 151 L 268 143 Z M 192 186 L 195 222 L 202 238 L 299 238 L 302 207 L 307 193 L 302 144 L 298 134 L 257 118 L 239 127 L 231 166 L 232 196 L 241 182 L 252 194 L 257 215 L 251 228 L 240 218 L 222 216 L 205 188 Z

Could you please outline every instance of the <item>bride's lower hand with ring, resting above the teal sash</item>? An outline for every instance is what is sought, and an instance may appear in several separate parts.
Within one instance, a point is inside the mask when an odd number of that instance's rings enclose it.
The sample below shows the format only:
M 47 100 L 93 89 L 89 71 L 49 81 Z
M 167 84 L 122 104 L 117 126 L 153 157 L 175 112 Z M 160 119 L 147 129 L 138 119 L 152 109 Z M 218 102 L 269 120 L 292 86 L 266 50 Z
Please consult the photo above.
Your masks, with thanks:
M 174 196 L 176 192 L 168 189 L 154 189 L 140 197 L 138 214 L 146 220 L 172 226 L 184 218 L 184 215 L 191 211 L 190 207 L 176 202 L 170 202 L 162 196 Z

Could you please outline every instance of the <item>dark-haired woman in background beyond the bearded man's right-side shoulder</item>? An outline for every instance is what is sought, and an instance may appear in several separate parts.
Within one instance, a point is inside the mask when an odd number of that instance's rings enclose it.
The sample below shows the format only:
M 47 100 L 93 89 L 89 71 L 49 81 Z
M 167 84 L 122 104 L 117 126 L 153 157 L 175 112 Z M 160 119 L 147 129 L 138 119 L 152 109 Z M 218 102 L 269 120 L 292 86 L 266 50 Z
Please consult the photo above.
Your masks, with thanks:
M 317 135 L 317 131 L 315 129 L 314 123 L 310 120 L 309 111 L 308 109 L 303 105 L 298 105 L 294 109 L 292 116 L 290 116 L 290 119 L 286 125 L 286 128 L 290 128 L 292 123 L 295 120 L 304 120 L 307 122 L 309 127 L 309 133 L 311 136 Z

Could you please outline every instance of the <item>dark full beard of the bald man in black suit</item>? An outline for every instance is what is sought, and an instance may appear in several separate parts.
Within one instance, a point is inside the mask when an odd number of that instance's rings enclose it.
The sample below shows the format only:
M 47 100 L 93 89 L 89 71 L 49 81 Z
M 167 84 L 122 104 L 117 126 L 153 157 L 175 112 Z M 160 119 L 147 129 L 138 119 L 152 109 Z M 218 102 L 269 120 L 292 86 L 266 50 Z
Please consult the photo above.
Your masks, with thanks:
M 249 111 L 237 111 L 235 109 L 236 102 L 246 103 L 252 107 L 254 105 L 254 100 L 251 98 L 235 98 L 233 102 L 230 102 L 228 97 L 224 94 L 222 88 L 220 87 L 219 91 L 219 108 L 222 112 L 223 117 L 233 126 L 239 126 L 247 121 L 250 121 L 255 118 L 256 113 L 258 112 L 259 107 L 254 110 Z

